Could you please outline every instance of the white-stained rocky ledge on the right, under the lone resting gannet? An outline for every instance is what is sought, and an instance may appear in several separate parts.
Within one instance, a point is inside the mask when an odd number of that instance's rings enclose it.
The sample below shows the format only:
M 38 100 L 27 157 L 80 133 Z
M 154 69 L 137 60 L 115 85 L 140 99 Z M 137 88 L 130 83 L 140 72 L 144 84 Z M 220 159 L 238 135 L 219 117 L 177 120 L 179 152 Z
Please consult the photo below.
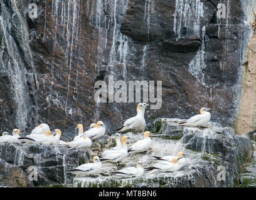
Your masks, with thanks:
M 235 187 L 240 183 L 243 164 L 253 152 L 247 135 L 235 135 L 232 128 L 211 123 L 207 128 L 178 126 L 181 119 L 156 119 L 152 146 L 146 154 L 130 154 L 122 167 L 135 166 L 141 159 L 144 166 L 155 161 L 152 156 L 166 156 L 183 151 L 188 164 L 173 173 L 146 173 L 140 178 L 117 179 L 109 176 L 114 164 L 103 164 L 97 178 L 74 178 L 73 187 Z M 152 131 L 153 132 L 153 131 Z M 141 134 L 127 133 L 130 146 Z M 223 170 L 225 172 L 223 172 Z M 223 176 L 220 176 L 220 173 Z

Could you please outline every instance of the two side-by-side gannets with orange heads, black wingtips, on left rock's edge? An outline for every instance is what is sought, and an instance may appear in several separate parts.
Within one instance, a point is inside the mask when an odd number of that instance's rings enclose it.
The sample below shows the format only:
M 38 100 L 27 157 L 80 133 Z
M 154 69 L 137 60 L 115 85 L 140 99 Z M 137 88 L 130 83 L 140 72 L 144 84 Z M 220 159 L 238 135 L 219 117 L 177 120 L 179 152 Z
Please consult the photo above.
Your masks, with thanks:
M 26 137 L 19 138 L 19 140 L 21 140 L 23 143 L 58 145 L 60 144 L 60 136 L 60 129 L 55 129 L 53 132 L 48 130 L 44 134 L 30 134 Z

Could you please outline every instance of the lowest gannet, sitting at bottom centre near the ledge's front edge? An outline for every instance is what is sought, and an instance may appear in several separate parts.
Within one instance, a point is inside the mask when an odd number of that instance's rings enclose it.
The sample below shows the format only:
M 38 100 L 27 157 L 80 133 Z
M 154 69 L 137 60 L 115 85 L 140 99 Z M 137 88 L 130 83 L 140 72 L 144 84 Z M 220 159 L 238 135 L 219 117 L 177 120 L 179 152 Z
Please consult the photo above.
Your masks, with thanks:
M 111 174 L 115 174 L 117 176 L 120 176 L 121 178 L 131 178 L 131 177 L 139 177 L 144 174 L 144 168 L 142 168 L 142 161 L 138 161 L 136 164 L 136 168 L 129 167 L 120 169 L 119 171 L 114 171 Z

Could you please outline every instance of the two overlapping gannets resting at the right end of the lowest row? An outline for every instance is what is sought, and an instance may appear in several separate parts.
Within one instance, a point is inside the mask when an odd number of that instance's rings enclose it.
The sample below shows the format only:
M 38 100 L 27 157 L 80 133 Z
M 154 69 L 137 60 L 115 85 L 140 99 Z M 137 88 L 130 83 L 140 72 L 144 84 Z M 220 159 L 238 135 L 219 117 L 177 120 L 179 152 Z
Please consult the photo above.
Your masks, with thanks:
M 184 164 L 186 164 L 186 159 L 183 157 L 183 152 L 181 151 L 177 154 L 177 156 L 154 156 L 154 158 L 156 158 L 159 162 L 151 167 L 146 168 L 146 171 L 150 171 L 147 174 L 178 171 L 184 166 Z

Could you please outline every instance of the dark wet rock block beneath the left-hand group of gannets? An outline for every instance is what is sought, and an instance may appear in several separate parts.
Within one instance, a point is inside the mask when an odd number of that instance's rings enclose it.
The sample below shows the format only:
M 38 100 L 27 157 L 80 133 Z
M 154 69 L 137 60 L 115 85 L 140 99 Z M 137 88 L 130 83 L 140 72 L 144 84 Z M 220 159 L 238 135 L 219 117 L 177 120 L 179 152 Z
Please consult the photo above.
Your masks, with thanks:
M 0 144 L 0 186 L 64 186 L 72 183 L 67 171 L 89 160 L 90 149 L 87 148 Z

